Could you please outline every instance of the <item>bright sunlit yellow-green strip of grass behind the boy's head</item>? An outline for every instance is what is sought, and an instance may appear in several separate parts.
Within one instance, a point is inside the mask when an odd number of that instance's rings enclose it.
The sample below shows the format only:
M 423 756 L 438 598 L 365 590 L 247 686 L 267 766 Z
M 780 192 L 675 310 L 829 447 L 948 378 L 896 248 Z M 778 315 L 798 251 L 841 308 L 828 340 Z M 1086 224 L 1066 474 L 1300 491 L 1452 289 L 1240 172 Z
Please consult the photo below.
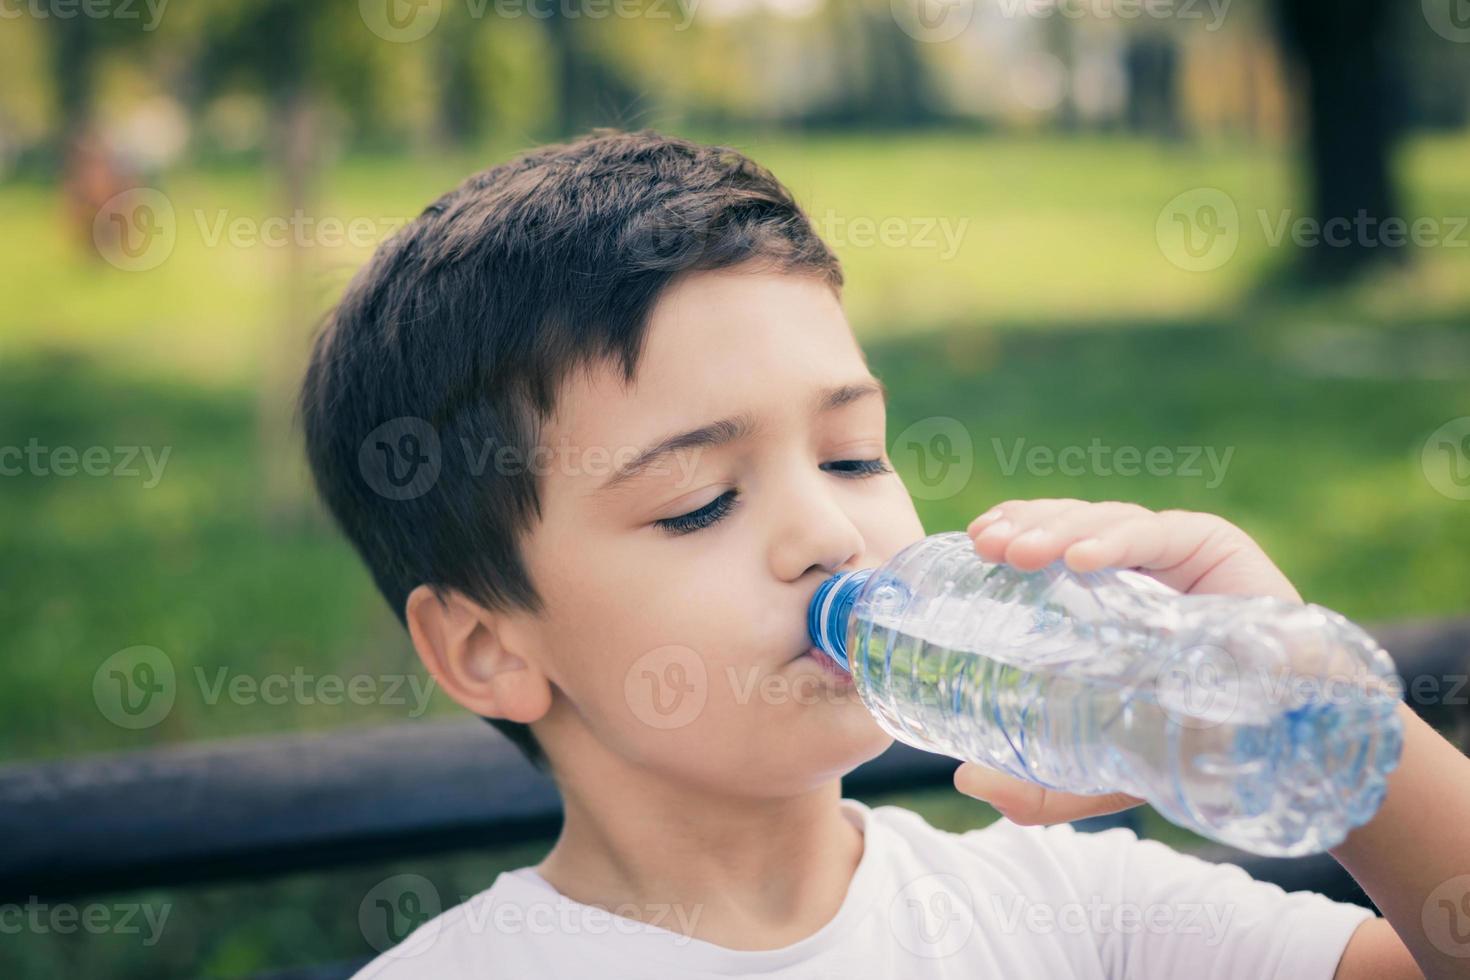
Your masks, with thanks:
M 864 336 L 944 323 L 1038 329 L 1217 311 L 1286 259 L 1270 247 L 1257 215 L 1274 220 L 1298 197 L 1286 157 L 1245 144 L 953 134 L 726 141 L 770 166 L 831 232 L 847 267 L 848 311 Z M 1470 137 L 1435 137 L 1404 148 L 1398 167 L 1408 213 L 1470 215 L 1470 190 L 1455 179 L 1467 143 Z M 351 157 L 316 179 L 303 219 L 316 229 L 326 220 L 365 222 L 387 234 L 470 170 L 516 150 Z M 143 376 L 251 383 L 262 351 L 303 329 L 290 326 L 282 270 L 300 270 L 304 316 L 297 319 L 309 319 L 370 251 L 372 237 L 334 245 L 312 231 L 298 250 L 216 238 L 222 217 L 228 228 L 288 215 L 276 184 L 257 169 L 184 170 L 154 184 L 173 207 L 176 241 L 146 272 L 97 262 L 84 237 L 60 220 L 49 188 L 0 188 L 6 269 L 25 285 L 7 297 L 3 350 L 79 348 Z M 1211 272 L 1176 267 L 1155 239 L 1160 209 L 1198 187 L 1223 190 L 1241 215 L 1235 257 Z M 892 245 L 853 231 L 854 222 L 883 220 L 897 222 Z M 941 220 L 957 234 L 953 254 L 938 247 Z M 935 231 L 926 237 L 931 223 Z M 1470 306 L 1466 251 L 1423 250 L 1413 275 L 1349 291 L 1336 309 L 1388 319 L 1463 311 Z

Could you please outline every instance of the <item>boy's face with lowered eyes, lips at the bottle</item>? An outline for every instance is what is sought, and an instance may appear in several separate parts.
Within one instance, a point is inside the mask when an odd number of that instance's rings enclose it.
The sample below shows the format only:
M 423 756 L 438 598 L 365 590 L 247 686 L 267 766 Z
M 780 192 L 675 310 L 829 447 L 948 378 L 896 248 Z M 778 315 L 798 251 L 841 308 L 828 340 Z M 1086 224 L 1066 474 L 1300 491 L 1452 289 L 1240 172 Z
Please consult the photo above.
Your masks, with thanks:
M 872 391 L 819 408 L 844 385 Z M 742 414 L 750 432 L 613 480 L 670 435 Z M 889 745 L 851 683 L 803 657 L 817 585 L 925 533 L 829 287 L 750 269 L 676 281 L 637 383 L 612 367 L 573 378 L 541 445 L 556 457 L 525 554 L 547 604 L 529 642 L 564 695 L 534 724 L 554 765 L 612 754 L 679 783 L 778 795 Z M 660 525 L 688 514 L 682 533 Z

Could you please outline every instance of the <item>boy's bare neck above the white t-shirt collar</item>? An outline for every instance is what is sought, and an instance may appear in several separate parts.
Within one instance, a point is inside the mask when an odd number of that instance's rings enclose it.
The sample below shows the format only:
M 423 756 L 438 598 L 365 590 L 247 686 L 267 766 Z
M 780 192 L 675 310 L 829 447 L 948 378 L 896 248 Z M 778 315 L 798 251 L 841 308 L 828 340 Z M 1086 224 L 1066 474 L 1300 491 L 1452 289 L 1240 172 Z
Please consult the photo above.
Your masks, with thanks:
M 836 915 L 863 857 L 839 779 L 741 798 L 610 761 L 557 780 L 562 835 L 537 871 L 560 893 L 729 949 L 779 949 Z

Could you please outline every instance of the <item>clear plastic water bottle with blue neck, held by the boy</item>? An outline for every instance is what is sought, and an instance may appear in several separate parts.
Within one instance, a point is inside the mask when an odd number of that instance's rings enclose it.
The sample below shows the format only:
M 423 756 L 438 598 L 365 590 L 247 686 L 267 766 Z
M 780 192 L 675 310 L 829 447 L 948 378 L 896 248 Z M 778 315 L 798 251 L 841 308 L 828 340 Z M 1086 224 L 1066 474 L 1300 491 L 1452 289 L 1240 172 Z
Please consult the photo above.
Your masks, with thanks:
M 1261 855 L 1367 823 L 1402 748 L 1394 661 L 1332 610 L 1060 560 L 1019 572 L 961 532 L 828 579 L 807 630 L 900 742 L 1141 796 Z

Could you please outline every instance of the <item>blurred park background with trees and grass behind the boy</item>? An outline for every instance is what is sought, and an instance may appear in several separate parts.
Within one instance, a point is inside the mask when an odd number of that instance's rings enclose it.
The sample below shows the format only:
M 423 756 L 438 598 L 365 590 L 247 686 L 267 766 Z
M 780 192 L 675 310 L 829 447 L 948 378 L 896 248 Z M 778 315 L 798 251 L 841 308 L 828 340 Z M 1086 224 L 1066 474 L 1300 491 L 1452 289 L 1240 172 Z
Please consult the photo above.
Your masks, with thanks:
M 929 530 L 1011 497 L 1207 510 L 1352 619 L 1463 614 L 1467 120 L 1463 0 L 6 3 L 0 447 L 37 448 L 0 476 L 0 760 L 417 720 L 193 679 L 422 673 L 309 489 L 306 345 L 434 197 L 595 125 L 734 145 L 791 187 Z M 1345 244 L 1311 234 L 1333 217 Z M 1229 457 L 1008 464 L 1094 444 Z M 925 472 L 936 445 L 958 479 Z M 56 455 L 96 447 L 94 473 Z M 137 646 L 181 682 L 126 727 L 94 680 Z M 168 905 L 159 942 L 7 934 L 0 974 L 350 959 L 385 876 L 466 896 L 544 849 L 110 896 Z

